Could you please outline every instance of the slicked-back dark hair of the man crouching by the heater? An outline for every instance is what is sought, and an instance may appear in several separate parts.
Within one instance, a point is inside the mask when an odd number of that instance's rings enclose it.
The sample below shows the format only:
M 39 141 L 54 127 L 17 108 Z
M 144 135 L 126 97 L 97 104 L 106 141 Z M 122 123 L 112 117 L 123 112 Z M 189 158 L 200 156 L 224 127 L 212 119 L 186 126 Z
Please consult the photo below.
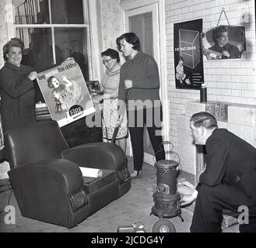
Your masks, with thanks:
M 191 116 L 190 122 L 193 122 L 193 126 L 203 126 L 205 129 L 218 128 L 218 122 L 216 118 L 209 112 L 198 112 Z

